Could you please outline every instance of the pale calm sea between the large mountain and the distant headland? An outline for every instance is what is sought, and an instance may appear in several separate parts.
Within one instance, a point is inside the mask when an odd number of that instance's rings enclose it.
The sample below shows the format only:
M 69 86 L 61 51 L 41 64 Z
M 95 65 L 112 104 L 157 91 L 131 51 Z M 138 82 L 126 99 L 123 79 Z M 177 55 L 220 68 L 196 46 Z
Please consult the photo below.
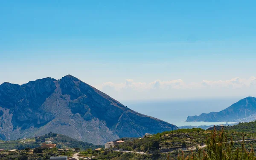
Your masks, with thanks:
M 220 125 L 226 122 L 184 122 L 187 116 L 200 115 L 201 113 L 209 113 L 212 111 L 221 111 L 240 98 L 229 99 L 196 99 L 196 100 L 162 100 L 162 101 L 125 101 L 122 102 L 128 108 L 162 119 L 166 122 L 177 126 L 183 125 Z M 232 122 L 229 122 L 232 123 Z

